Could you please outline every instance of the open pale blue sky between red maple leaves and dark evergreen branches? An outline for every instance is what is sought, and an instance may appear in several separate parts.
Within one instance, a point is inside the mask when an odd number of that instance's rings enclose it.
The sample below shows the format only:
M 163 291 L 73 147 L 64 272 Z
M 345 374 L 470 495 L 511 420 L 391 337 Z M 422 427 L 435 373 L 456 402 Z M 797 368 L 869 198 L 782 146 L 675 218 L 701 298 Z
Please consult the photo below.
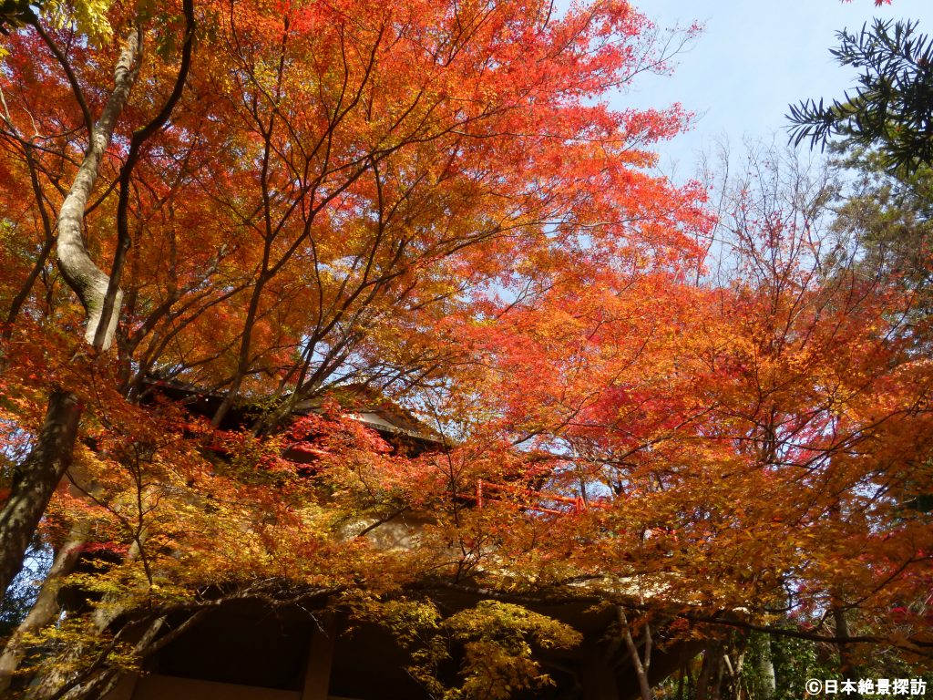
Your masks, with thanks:
M 661 144 L 661 171 L 693 175 L 697 153 L 725 138 L 787 141 L 787 105 L 841 96 L 856 73 L 832 62 L 835 33 L 860 29 L 872 17 L 920 21 L 933 34 L 933 0 L 635 0 L 660 26 L 698 20 L 703 34 L 678 57 L 671 77 L 641 76 L 614 105 L 660 107 L 680 102 L 698 117 L 689 133 Z

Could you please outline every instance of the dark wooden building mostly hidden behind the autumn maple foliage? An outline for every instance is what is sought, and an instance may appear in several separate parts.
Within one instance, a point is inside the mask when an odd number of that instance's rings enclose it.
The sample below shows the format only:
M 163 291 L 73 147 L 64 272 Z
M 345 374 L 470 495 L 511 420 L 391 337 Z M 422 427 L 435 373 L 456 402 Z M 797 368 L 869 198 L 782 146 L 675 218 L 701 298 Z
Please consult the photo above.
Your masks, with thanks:
M 209 414 L 221 400 L 188 386 L 160 383 L 168 398 L 193 413 Z M 296 413 L 317 410 L 299 405 Z M 357 420 L 398 449 L 418 453 L 439 449 L 438 433 L 387 402 L 362 405 Z M 229 427 L 243 427 L 248 412 L 232 412 Z M 289 455 L 298 461 L 313 456 Z M 382 525 L 371 539 L 380 547 L 417 545 L 418 517 Z M 432 600 L 446 614 L 480 602 L 476 594 L 442 591 Z M 409 652 L 375 623 L 351 621 L 340 611 L 325 611 L 327 600 L 309 598 L 272 606 L 243 597 L 211 609 L 188 631 L 147 658 L 141 673 L 127 675 L 106 700 L 431 700 L 406 671 Z M 632 700 L 638 681 L 620 642 L 615 609 L 592 600 L 528 604 L 528 609 L 567 623 L 583 636 L 570 650 L 536 650 L 536 660 L 553 684 L 536 692 L 517 692 L 517 700 Z M 174 626 L 174 625 L 170 625 Z M 663 630 L 659 641 L 663 642 Z M 660 682 L 699 651 L 697 642 L 661 643 L 652 654 L 650 679 Z M 452 650 L 453 681 L 459 667 Z

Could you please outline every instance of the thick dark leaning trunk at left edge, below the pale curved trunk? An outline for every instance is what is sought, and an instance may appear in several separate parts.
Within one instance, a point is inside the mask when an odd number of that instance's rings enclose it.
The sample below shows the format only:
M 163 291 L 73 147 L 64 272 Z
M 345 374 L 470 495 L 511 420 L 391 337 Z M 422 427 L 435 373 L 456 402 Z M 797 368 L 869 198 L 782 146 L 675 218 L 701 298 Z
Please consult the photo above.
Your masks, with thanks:
M 20 572 L 22 557 L 49 498 L 71 464 L 81 409 L 70 391 L 52 392 L 35 447 L 13 478 L 9 498 L 0 511 L 0 591 L 4 593 Z

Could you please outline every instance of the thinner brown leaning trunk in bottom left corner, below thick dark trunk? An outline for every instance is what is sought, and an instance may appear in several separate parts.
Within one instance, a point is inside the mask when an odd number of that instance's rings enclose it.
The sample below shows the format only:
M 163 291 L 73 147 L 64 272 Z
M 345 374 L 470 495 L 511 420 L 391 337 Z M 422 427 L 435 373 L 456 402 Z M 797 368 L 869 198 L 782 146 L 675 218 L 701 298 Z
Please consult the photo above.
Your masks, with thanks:
M 22 637 L 38 632 L 58 617 L 59 583 L 63 576 L 67 576 L 75 568 L 77 557 L 81 553 L 81 545 L 87 539 L 90 528 L 91 522 L 88 520 L 81 520 L 71 528 L 68 538 L 55 553 L 55 561 L 52 562 L 49 575 L 42 583 L 33 609 L 29 611 L 26 619 L 20 623 L 16 632 L 7 641 L 7 646 L 0 655 L 0 696 L 9 690 L 13 673 L 16 672 L 26 654 L 27 648 Z

